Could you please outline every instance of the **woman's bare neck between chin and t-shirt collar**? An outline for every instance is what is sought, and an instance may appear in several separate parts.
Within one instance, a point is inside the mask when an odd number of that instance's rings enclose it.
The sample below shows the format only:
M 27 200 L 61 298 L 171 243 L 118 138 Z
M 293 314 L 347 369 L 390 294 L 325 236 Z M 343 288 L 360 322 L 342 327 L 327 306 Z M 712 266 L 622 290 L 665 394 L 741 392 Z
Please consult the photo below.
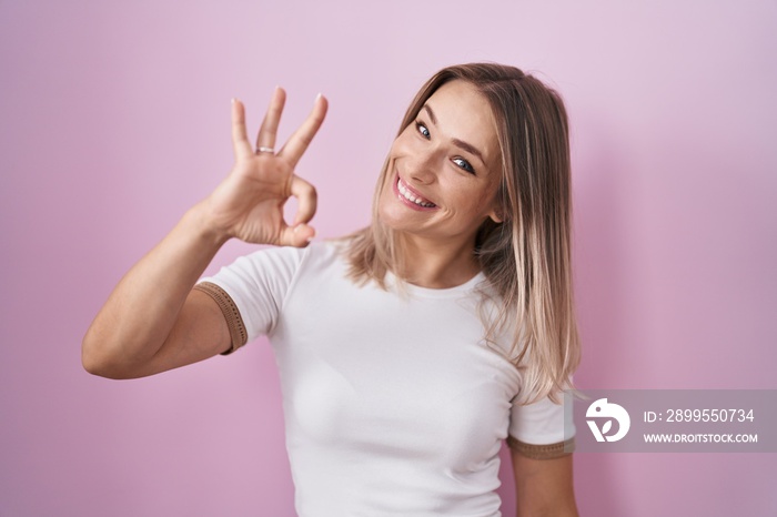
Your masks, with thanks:
M 404 267 L 395 273 L 411 284 L 428 288 L 455 287 L 481 271 L 473 253 L 474 242 L 430 241 L 410 234 L 401 235 L 400 242 Z

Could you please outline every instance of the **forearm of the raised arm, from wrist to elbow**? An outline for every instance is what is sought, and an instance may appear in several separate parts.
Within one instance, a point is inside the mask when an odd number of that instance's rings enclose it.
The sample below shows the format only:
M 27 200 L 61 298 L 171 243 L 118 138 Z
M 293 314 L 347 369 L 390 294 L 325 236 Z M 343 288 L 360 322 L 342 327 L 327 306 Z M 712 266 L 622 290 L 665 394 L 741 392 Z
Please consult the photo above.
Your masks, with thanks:
M 204 203 L 119 282 L 82 344 L 84 367 L 109 377 L 132 376 L 162 347 L 196 280 L 226 237 L 209 230 Z

